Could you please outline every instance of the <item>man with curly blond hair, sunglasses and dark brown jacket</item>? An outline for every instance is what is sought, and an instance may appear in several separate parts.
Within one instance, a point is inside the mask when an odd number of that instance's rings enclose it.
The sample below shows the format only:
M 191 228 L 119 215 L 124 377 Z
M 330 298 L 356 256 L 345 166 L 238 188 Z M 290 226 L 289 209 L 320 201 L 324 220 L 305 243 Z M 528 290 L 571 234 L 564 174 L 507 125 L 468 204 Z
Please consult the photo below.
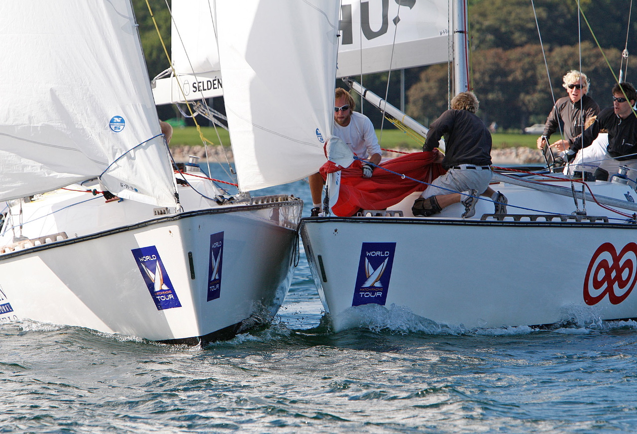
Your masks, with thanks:
M 548 138 L 555 131 L 559 131 L 563 133 L 563 139 L 557 140 L 551 147 L 563 151 L 573 138 L 582 134 L 587 119 L 599 114 L 598 103 L 587 95 L 590 81 L 584 73 L 571 70 L 562 77 L 562 80 L 562 86 L 568 92 L 568 96 L 555 101 L 553 110 L 547 117 L 544 133 L 538 137 L 539 149 L 548 144 Z

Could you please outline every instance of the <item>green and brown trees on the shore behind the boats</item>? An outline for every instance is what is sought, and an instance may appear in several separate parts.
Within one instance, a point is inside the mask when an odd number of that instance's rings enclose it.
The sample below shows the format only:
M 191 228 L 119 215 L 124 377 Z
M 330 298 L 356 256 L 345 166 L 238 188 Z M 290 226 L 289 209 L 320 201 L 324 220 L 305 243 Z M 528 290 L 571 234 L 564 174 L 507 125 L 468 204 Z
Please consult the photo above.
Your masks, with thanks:
M 631 15 L 629 22 L 631 2 L 469 0 L 469 81 L 480 100 L 478 115 L 485 123 L 495 121 L 506 129 L 543 123 L 553 104 L 552 93 L 556 100 L 566 95 L 561 86 L 562 76 L 571 69 L 581 69 L 589 76 L 590 96 L 600 107 L 610 106 L 610 88 L 615 82 L 613 72 L 619 77 L 622 51 L 625 46 L 628 52 L 637 50 L 637 11 Z M 167 2 L 148 0 L 148 3 L 169 47 Z M 168 61 L 148 11 L 147 0 L 133 0 L 133 7 L 152 78 L 168 67 Z M 631 56 L 628 60 L 632 65 Z M 447 64 L 406 70 L 407 114 L 427 125 L 446 110 L 449 74 Z M 628 68 L 626 81 L 630 82 L 631 77 L 632 71 Z M 400 74 L 397 71 L 366 75 L 362 80 L 371 91 L 385 96 L 388 79 L 387 100 L 399 107 Z M 637 84 L 637 79 L 633 82 Z M 338 82 L 337 86 L 342 84 Z M 380 115 L 365 110 L 378 128 Z M 174 111 L 171 113 L 174 116 Z M 166 116 L 169 113 L 163 117 Z

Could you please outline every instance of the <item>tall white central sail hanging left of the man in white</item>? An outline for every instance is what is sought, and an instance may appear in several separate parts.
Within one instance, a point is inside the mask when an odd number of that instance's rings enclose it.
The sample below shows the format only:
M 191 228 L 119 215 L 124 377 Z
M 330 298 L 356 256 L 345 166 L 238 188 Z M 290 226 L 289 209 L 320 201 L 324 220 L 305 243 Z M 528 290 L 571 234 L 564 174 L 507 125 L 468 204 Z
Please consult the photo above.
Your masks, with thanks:
M 326 161 L 338 3 L 217 0 L 225 110 L 241 190 L 296 181 Z

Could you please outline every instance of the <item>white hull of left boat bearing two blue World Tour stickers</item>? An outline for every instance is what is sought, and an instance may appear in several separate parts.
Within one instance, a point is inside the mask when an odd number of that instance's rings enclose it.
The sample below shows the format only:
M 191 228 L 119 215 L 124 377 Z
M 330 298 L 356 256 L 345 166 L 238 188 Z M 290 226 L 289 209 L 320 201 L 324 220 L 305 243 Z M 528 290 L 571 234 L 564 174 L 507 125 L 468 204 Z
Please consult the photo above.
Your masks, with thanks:
M 100 207 L 124 204 L 138 206 Z M 283 303 L 301 207 L 299 200 L 220 206 L 7 250 L 1 320 L 154 341 L 232 337 L 268 322 Z

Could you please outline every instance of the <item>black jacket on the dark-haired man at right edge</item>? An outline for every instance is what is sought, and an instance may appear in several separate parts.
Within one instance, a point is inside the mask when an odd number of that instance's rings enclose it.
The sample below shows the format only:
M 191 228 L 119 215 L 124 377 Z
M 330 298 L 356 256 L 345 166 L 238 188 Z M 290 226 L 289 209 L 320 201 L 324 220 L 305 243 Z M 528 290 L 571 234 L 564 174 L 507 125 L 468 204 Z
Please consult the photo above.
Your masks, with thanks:
M 598 137 L 599 130 L 608 130 L 608 154 L 617 160 L 637 158 L 637 116 L 634 112 L 626 119 L 615 114 L 613 107 L 601 111 L 594 124 L 584 130 L 581 137 L 571 142 L 571 149 L 578 151 L 588 147 Z

